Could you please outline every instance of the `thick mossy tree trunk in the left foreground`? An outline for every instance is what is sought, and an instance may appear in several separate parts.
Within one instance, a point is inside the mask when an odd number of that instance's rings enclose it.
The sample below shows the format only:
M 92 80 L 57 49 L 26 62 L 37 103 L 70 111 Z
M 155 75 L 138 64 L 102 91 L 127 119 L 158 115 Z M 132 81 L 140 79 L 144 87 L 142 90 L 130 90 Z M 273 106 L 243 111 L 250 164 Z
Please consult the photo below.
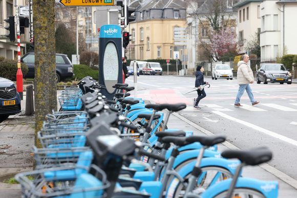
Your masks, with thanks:
M 35 145 L 45 116 L 57 110 L 54 0 L 33 0 L 35 43 Z

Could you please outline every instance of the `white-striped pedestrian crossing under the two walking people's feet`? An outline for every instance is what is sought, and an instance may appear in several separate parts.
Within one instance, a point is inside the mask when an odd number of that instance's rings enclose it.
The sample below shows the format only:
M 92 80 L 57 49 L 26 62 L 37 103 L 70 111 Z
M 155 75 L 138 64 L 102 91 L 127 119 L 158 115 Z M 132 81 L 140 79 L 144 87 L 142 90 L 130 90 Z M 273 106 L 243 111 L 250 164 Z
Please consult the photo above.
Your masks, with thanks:
M 224 106 L 223 106 L 224 105 Z M 226 106 L 227 105 L 227 106 Z M 250 104 L 241 104 L 242 106 L 235 107 L 234 104 L 202 104 L 203 109 L 211 109 L 211 111 L 219 111 L 219 112 L 234 112 L 241 109 L 250 112 L 269 112 L 269 111 L 282 111 L 282 112 L 297 112 L 297 103 L 287 103 L 285 105 L 280 105 L 276 103 L 260 103 L 257 106 L 252 106 Z M 188 105 L 183 111 L 195 111 L 192 105 Z

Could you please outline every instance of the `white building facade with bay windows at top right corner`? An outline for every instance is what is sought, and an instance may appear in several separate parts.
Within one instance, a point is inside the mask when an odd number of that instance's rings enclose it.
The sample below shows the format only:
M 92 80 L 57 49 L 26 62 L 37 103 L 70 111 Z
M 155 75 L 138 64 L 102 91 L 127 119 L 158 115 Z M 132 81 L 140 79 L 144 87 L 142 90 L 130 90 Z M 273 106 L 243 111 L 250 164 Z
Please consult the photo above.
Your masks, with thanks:
M 297 1 L 263 1 L 260 7 L 261 60 L 297 54 Z

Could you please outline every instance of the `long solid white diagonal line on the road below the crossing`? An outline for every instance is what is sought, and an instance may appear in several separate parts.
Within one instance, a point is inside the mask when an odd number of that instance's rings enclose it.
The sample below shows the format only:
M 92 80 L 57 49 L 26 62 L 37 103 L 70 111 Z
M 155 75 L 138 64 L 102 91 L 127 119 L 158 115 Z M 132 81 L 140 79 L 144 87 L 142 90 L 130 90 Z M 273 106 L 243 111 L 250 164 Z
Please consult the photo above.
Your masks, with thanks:
M 290 144 L 292 144 L 292 145 L 294 145 L 294 146 L 297 146 L 297 141 L 296 141 L 296 140 L 287 138 L 287 137 L 282 136 L 282 135 L 280 135 L 280 134 L 274 133 L 273 131 L 267 130 L 267 129 L 265 129 L 265 128 L 262 128 L 262 127 L 260 127 L 260 126 L 254 125 L 254 124 L 251 124 L 251 123 L 249 123 L 249 122 L 246 122 L 246 121 L 243 121 L 243 120 L 240 120 L 240 119 L 231 117 L 231 116 L 229 116 L 229 115 L 227 115 L 227 114 L 224 114 L 224 113 L 222 113 L 222 112 L 219 112 L 219 111 L 213 111 L 213 113 L 214 113 L 214 114 L 217 114 L 217 115 L 219 115 L 219 116 L 222 116 L 222 117 L 224 117 L 224 118 L 226 118 L 226 119 L 229 119 L 229 120 L 231 120 L 231 121 L 238 122 L 238 123 L 240 123 L 240 124 L 243 124 L 243 125 L 245 125 L 245 126 L 248 126 L 248 127 L 250 127 L 250 128 L 253 128 L 253 129 L 255 129 L 255 130 L 259 130 L 259 131 L 261 131 L 262 133 L 264 133 L 264 134 L 266 134 L 266 135 L 268 135 L 268 136 L 271 136 L 271 137 L 273 137 L 273 138 L 277 138 L 277 139 L 279 139 L 279 140 L 282 140 L 282 141 L 284 141 L 284 142 L 287 142 L 287 143 L 290 143 Z

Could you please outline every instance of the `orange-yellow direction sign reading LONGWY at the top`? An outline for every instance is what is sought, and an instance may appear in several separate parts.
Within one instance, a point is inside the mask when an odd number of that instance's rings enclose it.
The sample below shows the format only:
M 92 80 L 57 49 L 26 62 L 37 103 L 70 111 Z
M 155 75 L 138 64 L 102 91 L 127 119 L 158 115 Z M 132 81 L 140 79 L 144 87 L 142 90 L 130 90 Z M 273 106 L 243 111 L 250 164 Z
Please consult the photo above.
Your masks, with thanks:
M 63 6 L 113 6 L 114 0 L 60 0 Z

